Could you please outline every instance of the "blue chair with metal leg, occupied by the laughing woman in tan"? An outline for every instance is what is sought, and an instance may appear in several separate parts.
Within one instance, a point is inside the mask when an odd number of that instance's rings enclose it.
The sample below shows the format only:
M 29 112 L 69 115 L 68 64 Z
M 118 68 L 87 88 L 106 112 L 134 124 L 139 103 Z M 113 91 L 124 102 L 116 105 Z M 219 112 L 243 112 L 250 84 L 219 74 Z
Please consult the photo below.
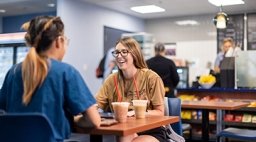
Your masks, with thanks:
M 168 105 L 167 105 L 168 104 Z M 179 98 L 167 98 L 165 97 L 165 115 L 179 116 L 180 121 L 171 124 L 173 130 L 179 134 L 183 135 L 183 132 L 189 131 L 189 139 L 192 138 L 192 127 L 190 124 L 182 124 L 181 122 L 181 100 Z

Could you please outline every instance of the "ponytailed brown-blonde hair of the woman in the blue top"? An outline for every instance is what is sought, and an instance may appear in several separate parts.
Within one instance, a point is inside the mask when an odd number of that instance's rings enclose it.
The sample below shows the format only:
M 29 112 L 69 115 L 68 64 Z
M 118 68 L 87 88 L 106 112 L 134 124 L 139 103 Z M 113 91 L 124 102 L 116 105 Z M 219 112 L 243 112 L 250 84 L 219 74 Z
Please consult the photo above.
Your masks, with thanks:
M 22 25 L 27 33 L 25 40 L 30 50 L 22 62 L 23 98 L 27 105 L 35 90 L 42 85 L 48 74 L 47 57 L 43 52 L 50 48 L 52 42 L 63 34 L 64 24 L 59 17 L 38 16 Z

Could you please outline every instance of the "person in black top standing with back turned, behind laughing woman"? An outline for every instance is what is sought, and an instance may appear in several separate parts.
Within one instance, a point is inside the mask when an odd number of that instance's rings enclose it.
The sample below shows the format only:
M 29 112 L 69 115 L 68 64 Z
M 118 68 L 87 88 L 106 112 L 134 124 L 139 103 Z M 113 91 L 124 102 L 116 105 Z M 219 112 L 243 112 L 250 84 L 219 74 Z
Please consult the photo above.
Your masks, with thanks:
M 163 43 L 155 44 L 155 57 L 147 60 L 147 65 L 155 71 L 163 80 L 165 86 L 165 96 L 175 97 L 175 88 L 180 78 L 175 63 L 165 56 L 165 46 Z

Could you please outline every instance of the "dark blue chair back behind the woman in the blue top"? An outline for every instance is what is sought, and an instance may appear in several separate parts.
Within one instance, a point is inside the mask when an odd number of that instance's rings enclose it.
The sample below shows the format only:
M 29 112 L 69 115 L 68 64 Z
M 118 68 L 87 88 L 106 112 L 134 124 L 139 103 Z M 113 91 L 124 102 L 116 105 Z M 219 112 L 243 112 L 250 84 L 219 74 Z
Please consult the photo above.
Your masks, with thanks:
M 46 116 L 38 113 L 0 115 L 2 142 L 56 142 L 53 127 Z

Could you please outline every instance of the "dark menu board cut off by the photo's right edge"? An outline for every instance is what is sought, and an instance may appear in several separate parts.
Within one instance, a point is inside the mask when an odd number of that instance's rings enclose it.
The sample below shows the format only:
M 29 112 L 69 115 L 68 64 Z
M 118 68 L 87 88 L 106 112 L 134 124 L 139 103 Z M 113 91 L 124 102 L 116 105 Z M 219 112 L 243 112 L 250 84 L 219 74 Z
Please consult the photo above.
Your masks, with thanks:
M 256 50 L 256 13 L 247 15 L 247 50 Z

